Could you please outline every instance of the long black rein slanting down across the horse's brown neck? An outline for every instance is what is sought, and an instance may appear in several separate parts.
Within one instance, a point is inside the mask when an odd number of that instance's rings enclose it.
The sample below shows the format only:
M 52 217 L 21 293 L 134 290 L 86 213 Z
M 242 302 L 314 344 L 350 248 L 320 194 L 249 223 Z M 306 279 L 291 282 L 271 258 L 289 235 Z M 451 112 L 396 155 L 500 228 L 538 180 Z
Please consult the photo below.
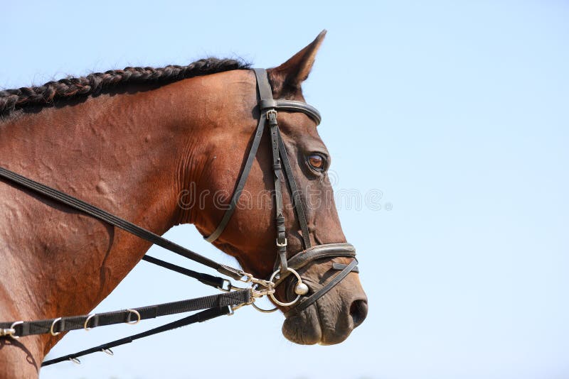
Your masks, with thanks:
M 121 219 L 114 214 L 110 214 L 109 212 L 105 212 L 102 209 L 95 207 L 87 202 L 83 202 L 83 200 L 77 199 L 76 197 L 70 196 L 63 192 L 58 191 L 57 189 L 53 189 L 46 185 L 41 184 L 40 182 L 36 182 L 34 180 L 28 179 L 27 177 L 23 177 L 22 175 L 16 174 L 11 170 L 7 170 L 4 167 L 0 167 L 0 177 L 4 177 L 11 182 L 17 183 L 22 187 L 26 187 L 27 189 L 31 189 L 33 192 L 37 192 L 42 194 L 50 199 L 53 199 L 57 202 L 62 204 L 68 205 L 73 209 L 77 209 L 78 211 L 84 212 L 85 214 L 89 214 L 95 219 L 99 219 L 101 221 L 106 222 L 107 224 L 111 224 L 112 226 L 117 226 L 117 228 L 123 229 L 124 231 L 128 231 L 130 234 L 134 234 L 142 239 L 145 239 L 155 245 L 161 246 L 166 250 L 172 251 L 173 253 L 179 254 L 180 256 L 184 256 L 188 259 L 195 260 L 202 265 L 206 265 L 210 268 L 220 271 L 224 275 L 229 275 L 231 278 L 239 279 L 242 278 L 243 275 L 239 275 L 239 270 L 232 269 L 227 270 L 227 266 L 220 265 L 214 260 L 201 256 L 198 253 L 195 253 L 183 246 L 178 245 L 172 241 L 167 240 L 164 237 L 161 237 L 157 234 L 152 233 L 151 231 L 141 228 L 132 222 L 129 222 L 125 219 Z

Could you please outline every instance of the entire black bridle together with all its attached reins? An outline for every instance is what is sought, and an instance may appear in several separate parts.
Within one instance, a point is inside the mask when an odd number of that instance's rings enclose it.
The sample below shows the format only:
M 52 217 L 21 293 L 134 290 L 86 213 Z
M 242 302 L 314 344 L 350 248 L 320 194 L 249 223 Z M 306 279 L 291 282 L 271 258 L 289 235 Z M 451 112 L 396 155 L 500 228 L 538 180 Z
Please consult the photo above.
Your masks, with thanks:
M 4 178 L 5 180 L 13 182 L 16 185 L 20 185 L 21 187 L 25 187 L 26 189 L 30 189 L 31 191 L 38 194 L 42 194 L 43 196 L 53 199 L 62 204 L 66 204 L 69 207 L 88 214 L 96 219 L 105 221 L 107 224 L 116 226 L 120 229 L 123 229 L 124 231 L 128 231 L 129 233 L 134 234 L 135 236 L 139 236 L 140 238 L 143 238 L 151 243 L 166 248 L 169 251 L 194 260 L 198 263 L 201 263 L 202 265 L 213 268 L 214 270 L 217 270 L 218 273 L 227 275 L 234 280 L 245 282 L 251 285 L 251 287 L 247 288 L 235 287 L 235 285 L 233 285 L 228 279 L 219 278 L 206 273 L 197 273 L 196 271 L 181 268 L 180 266 L 164 262 L 163 260 L 159 260 L 151 256 L 144 256 L 142 259 L 149 263 L 154 263 L 156 265 L 160 265 L 161 267 L 168 268 L 169 270 L 174 270 L 177 273 L 195 278 L 200 282 L 203 282 L 206 285 L 210 285 L 211 287 L 216 287 L 225 293 L 190 300 L 182 300 L 180 302 L 157 304 L 151 307 L 123 309 L 116 312 L 106 312 L 102 314 L 58 317 L 55 319 L 28 322 L 0 322 L 0 338 L 2 336 L 19 338 L 21 336 L 28 336 L 32 334 L 47 333 L 55 336 L 62 331 L 70 331 L 76 329 L 89 330 L 96 326 L 118 324 L 121 322 L 126 322 L 128 324 L 132 324 L 134 322 L 134 324 L 136 324 L 141 319 L 149 319 L 166 314 L 176 314 L 198 309 L 206 309 L 197 314 L 192 314 L 190 317 L 186 317 L 177 322 L 166 324 L 164 326 L 160 326 L 159 328 L 151 329 L 141 334 L 130 336 L 127 338 L 128 341 L 127 339 L 112 341 L 107 344 L 96 346 L 95 348 L 87 349 L 86 351 L 81 351 L 79 353 L 74 353 L 68 356 L 63 356 L 43 362 L 42 366 L 47 366 L 48 364 L 65 360 L 70 360 L 77 363 L 78 356 L 83 356 L 87 353 L 92 353 L 95 351 L 105 351 L 109 353 L 111 347 L 125 344 L 134 339 L 139 339 L 144 336 L 149 336 L 151 334 L 156 334 L 161 331 L 174 329 L 187 324 L 193 324 L 194 322 L 206 321 L 207 319 L 218 317 L 223 314 L 233 314 L 235 309 L 238 309 L 243 305 L 252 304 L 255 308 L 261 310 L 262 312 L 272 312 L 273 310 L 276 310 L 277 308 L 269 310 L 260 309 L 255 305 L 255 300 L 264 296 L 269 296 L 271 300 L 275 302 L 275 304 L 278 304 L 282 307 L 289 307 L 287 309 L 287 315 L 302 312 L 304 309 L 307 309 L 309 305 L 313 304 L 320 297 L 324 296 L 326 292 L 329 292 L 329 290 L 341 282 L 341 280 L 346 278 L 349 273 L 358 272 L 358 261 L 355 258 L 356 250 L 351 244 L 327 243 L 324 245 L 312 246 L 310 242 L 310 234 L 304 213 L 304 205 L 302 203 L 301 193 L 294 180 L 294 175 L 287 155 L 287 150 L 285 148 L 285 143 L 282 141 L 282 136 L 277 122 L 277 111 L 289 111 L 306 114 L 318 125 L 321 121 L 319 111 L 317 111 L 317 109 L 315 109 L 313 106 L 310 106 L 309 104 L 306 104 L 302 101 L 272 99 L 272 89 L 267 77 L 267 71 L 264 69 L 253 69 L 253 71 L 255 72 L 255 77 L 257 79 L 257 90 L 259 92 L 259 121 L 257 123 L 257 128 L 255 129 L 255 135 L 253 136 L 247 160 L 245 161 L 245 166 L 239 175 L 238 183 L 231 197 L 228 209 L 225 211 L 225 214 L 223 214 L 223 217 L 216 230 L 213 231 L 210 236 L 206 237 L 206 241 L 216 241 L 216 239 L 223 233 L 225 227 L 228 225 L 231 216 L 237 208 L 240 194 L 243 192 L 243 188 L 245 187 L 245 182 L 247 181 L 248 175 L 250 173 L 252 163 L 255 160 L 255 155 L 257 154 L 257 149 L 260 145 L 263 131 L 265 128 L 268 128 L 272 148 L 272 172 L 274 173 L 273 179 L 275 182 L 275 224 L 277 232 L 277 238 L 275 241 L 277 259 L 275 262 L 275 272 L 270 275 L 270 278 L 268 278 L 268 280 L 257 279 L 253 275 L 245 273 L 243 270 L 231 268 L 227 265 L 221 265 L 220 263 L 201 256 L 200 254 L 188 250 L 183 246 L 179 246 L 176 243 L 167 240 L 166 238 L 158 236 L 151 231 L 148 231 L 147 229 L 132 224 L 131 222 L 121 219 L 118 216 L 105 212 L 103 209 L 95 207 L 92 204 L 83 202 L 82 200 L 70 196 L 69 194 L 65 194 L 64 192 L 60 192 L 57 189 L 48 187 L 22 175 L 18 175 L 16 172 L 7 170 L 4 167 L 0 167 L 0 177 Z M 287 182 L 287 188 L 291 194 L 294 213 L 297 216 L 297 221 L 300 226 L 302 244 L 304 247 L 304 250 L 297 252 L 291 258 L 287 257 L 288 243 L 285 227 L 285 216 L 282 204 L 282 177 L 284 177 L 285 181 Z M 329 280 L 329 282 L 321 286 L 318 290 L 315 290 L 312 294 L 309 294 L 309 287 L 302 281 L 298 270 L 306 265 L 309 265 L 310 263 L 313 263 L 315 260 L 338 257 L 352 258 L 352 260 L 348 265 L 341 263 L 332 263 L 332 270 L 337 270 L 339 273 L 337 273 L 333 278 L 331 278 L 331 280 Z M 285 282 L 285 280 L 290 275 L 293 275 L 294 278 L 297 279 L 297 282 L 294 284 L 294 293 L 296 294 L 296 297 L 292 301 L 283 302 L 275 297 L 275 288 L 281 283 Z

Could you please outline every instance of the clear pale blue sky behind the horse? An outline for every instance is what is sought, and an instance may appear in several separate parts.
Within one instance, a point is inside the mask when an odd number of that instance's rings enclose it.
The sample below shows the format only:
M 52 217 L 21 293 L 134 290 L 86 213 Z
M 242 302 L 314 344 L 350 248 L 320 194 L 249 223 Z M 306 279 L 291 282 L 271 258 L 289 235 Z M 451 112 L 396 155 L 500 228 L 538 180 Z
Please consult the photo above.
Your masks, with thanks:
M 368 194 L 338 204 L 370 304 L 343 344 L 296 346 L 282 314 L 240 309 L 42 378 L 569 377 L 567 1 L 1 2 L 4 88 L 209 55 L 271 67 L 327 28 L 304 93 L 336 192 Z M 193 226 L 166 237 L 233 264 Z M 208 293 L 142 262 L 97 311 Z M 49 357 L 157 324 L 75 331 Z

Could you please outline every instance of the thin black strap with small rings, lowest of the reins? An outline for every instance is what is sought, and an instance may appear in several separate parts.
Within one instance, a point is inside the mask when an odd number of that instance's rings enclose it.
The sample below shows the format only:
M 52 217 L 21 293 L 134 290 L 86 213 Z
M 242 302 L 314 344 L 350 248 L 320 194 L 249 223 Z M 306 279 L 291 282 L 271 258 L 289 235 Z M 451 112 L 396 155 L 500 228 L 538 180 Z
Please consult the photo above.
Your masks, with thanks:
M 83 351 L 78 351 L 77 353 L 69 354 L 67 356 L 60 356 L 58 358 L 50 359 L 48 361 L 44 361 L 41 363 L 41 366 L 49 366 L 53 365 L 53 363 L 59 363 L 63 361 L 70 361 L 72 359 L 77 359 L 80 356 L 86 356 L 87 354 L 96 353 L 98 351 L 108 351 L 110 348 L 114 348 L 117 346 L 121 346 L 124 344 L 129 344 L 132 341 L 137 339 L 142 339 L 144 337 L 152 336 L 154 334 L 161 333 L 163 331 L 169 331 L 172 329 L 180 328 L 181 326 L 186 326 L 189 324 L 194 324 L 196 322 L 204 322 L 215 317 L 223 316 L 225 314 L 230 314 L 231 309 L 229 307 L 221 307 L 221 308 L 210 308 L 206 309 L 205 311 L 192 314 L 191 316 L 184 317 L 184 319 L 179 319 L 175 322 L 171 322 L 169 324 L 164 324 L 162 326 L 158 326 L 157 328 L 150 329 L 147 331 L 143 331 L 139 334 L 134 334 L 132 336 L 124 337 L 122 339 L 117 339 L 115 341 L 107 342 L 106 344 L 102 344 L 99 346 L 95 346 L 93 348 L 87 348 Z

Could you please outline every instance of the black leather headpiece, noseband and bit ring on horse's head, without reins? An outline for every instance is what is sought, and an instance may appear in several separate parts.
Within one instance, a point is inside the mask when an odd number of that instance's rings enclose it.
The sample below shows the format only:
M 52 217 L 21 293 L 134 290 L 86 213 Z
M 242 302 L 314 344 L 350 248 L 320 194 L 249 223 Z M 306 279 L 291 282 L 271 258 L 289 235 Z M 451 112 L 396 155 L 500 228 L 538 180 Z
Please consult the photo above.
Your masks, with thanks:
M 287 100 L 287 99 L 273 99 L 272 89 L 267 76 L 267 71 L 265 69 L 255 68 L 255 77 L 257 78 L 257 90 L 259 92 L 259 123 L 257 123 L 257 129 L 255 131 L 255 137 L 253 138 L 251 148 L 249 150 L 249 155 L 245 161 L 245 167 L 243 167 L 243 172 L 241 172 L 238 179 L 238 185 L 235 187 L 233 196 L 228 209 L 223 214 L 218 227 L 213 233 L 206 237 L 206 241 L 213 242 L 223 233 L 225 227 L 229 223 L 235 208 L 237 207 L 238 200 L 241 192 L 243 192 L 243 187 L 245 187 L 245 182 L 247 182 L 247 177 L 249 176 L 250 169 L 252 167 L 253 160 L 255 160 L 255 155 L 257 154 L 257 148 L 259 148 L 259 143 L 261 141 L 262 133 L 265 127 L 268 126 L 270 131 L 270 141 L 272 148 L 272 171 L 273 180 L 275 182 L 275 224 L 277 228 L 277 260 L 275 262 L 275 272 L 271 275 L 269 282 L 277 280 L 275 285 L 280 284 L 289 275 L 294 275 L 297 278 L 297 284 L 294 287 L 294 293 L 297 297 L 291 302 L 281 302 L 277 300 L 274 293 L 270 293 L 271 299 L 283 307 L 293 306 L 289 312 L 296 311 L 300 312 L 306 309 L 310 304 L 314 303 L 320 297 L 324 296 L 326 292 L 331 290 L 332 287 L 341 282 L 342 279 L 351 272 L 358 272 L 356 260 L 356 250 L 349 243 L 327 243 L 324 245 L 311 246 L 310 234 L 308 230 L 307 220 L 304 213 L 304 205 L 302 203 L 302 198 L 300 197 L 300 192 L 297 187 L 297 183 L 294 180 L 294 175 L 292 173 L 292 167 L 287 155 L 287 149 L 285 148 L 285 143 L 282 141 L 282 136 L 280 134 L 279 125 L 277 122 L 277 111 L 289 111 L 289 112 L 301 112 L 309 116 L 314 120 L 317 125 L 321 121 L 321 116 L 319 111 L 303 101 Z M 282 185 L 281 177 L 284 175 L 287 182 L 287 187 L 292 195 L 292 203 L 294 207 L 294 212 L 297 215 L 297 221 L 300 226 L 302 233 L 302 243 L 304 245 L 304 251 L 300 251 L 295 254 L 292 258 L 287 258 L 287 236 L 285 227 L 285 215 L 282 212 Z M 321 287 L 316 292 L 308 297 L 309 288 L 302 282 L 302 278 L 297 273 L 299 268 L 314 262 L 314 260 L 321 260 L 324 258 L 337 258 L 337 257 L 347 257 L 353 258 L 349 265 L 343 265 L 340 263 L 333 263 L 333 270 L 340 270 L 332 280 L 330 280 L 326 285 Z M 302 300 L 301 300 L 301 297 Z

